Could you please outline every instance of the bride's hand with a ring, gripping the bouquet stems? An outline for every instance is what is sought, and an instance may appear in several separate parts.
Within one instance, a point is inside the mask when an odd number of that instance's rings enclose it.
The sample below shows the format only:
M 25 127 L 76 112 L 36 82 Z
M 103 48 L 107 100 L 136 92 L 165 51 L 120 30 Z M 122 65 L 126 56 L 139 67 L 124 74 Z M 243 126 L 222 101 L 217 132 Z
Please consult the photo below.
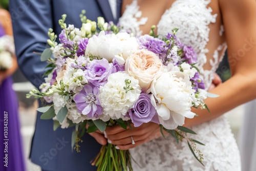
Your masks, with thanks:
M 119 125 L 107 127 L 104 134 L 109 143 L 116 145 L 116 148 L 121 150 L 134 148 L 162 136 L 159 124 L 154 122 L 143 123 L 139 127 L 134 127 L 131 123 L 131 127 L 127 126 L 127 130 Z M 135 144 L 132 144 L 131 137 Z

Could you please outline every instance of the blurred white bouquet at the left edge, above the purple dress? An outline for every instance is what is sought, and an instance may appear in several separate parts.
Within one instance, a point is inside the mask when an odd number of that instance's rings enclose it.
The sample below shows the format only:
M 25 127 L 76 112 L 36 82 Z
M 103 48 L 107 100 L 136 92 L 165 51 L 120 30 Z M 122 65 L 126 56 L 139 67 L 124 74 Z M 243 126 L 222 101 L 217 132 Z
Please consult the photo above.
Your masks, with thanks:
M 15 53 L 13 37 L 5 35 L 0 37 L 0 70 L 12 67 L 12 55 Z

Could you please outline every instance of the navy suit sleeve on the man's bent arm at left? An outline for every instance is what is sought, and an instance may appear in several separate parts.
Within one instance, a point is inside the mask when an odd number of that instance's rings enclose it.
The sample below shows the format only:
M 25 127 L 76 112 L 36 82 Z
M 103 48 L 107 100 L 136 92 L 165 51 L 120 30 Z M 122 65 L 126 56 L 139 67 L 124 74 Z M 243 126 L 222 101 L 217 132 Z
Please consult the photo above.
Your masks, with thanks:
M 34 52 L 42 53 L 46 48 L 48 29 L 53 27 L 51 1 L 9 2 L 19 68 L 38 88 L 44 81 L 42 75 L 47 62 L 40 61 L 40 55 Z

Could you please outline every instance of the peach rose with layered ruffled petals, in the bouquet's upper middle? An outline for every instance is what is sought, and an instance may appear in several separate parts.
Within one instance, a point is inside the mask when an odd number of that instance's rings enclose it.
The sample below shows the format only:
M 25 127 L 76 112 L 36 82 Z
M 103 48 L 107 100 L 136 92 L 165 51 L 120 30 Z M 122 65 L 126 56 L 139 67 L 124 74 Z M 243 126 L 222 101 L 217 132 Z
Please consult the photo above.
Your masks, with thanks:
M 125 62 L 125 71 L 139 80 L 139 86 L 146 92 L 154 77 L 161 72 L 163 64 L 159 56 L 146 49 L 135 51 Z

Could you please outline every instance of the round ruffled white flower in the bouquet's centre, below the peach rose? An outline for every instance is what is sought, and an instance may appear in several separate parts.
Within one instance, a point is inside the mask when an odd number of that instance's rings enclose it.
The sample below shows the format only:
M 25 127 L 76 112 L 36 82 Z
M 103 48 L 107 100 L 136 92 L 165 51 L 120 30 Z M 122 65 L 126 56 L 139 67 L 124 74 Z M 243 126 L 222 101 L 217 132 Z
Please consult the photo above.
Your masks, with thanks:
M 131 81 L 130 88 L 133 90 L 124 90 L 124 87 L 127 86 L 125 80 Z M 126 115 L 141 93 L 139 81 L 125 72 L 111 74 L 108 82 L 99 90 L 98 98 L 103 107 L 103 114 L 109 115 L 113 119 L 119 119 Z

